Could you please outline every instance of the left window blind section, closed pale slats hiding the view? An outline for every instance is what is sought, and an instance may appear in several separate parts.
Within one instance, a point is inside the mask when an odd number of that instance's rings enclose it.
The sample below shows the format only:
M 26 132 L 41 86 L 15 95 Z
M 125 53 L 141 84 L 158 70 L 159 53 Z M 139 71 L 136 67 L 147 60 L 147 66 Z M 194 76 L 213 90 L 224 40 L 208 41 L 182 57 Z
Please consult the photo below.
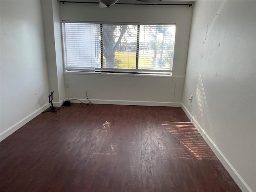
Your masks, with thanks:
M 100 24 L 63 23 L 66 67 L 100 67 Z

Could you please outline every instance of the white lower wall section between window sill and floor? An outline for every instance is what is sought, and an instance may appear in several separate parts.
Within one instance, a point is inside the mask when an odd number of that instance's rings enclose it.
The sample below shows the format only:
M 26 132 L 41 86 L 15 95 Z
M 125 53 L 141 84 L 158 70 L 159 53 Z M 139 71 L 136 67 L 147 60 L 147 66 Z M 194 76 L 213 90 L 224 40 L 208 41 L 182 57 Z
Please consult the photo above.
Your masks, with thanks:
M 180 106 L 184 78 L 105 74 L 65 74 L 66 95 L 92 103 Z

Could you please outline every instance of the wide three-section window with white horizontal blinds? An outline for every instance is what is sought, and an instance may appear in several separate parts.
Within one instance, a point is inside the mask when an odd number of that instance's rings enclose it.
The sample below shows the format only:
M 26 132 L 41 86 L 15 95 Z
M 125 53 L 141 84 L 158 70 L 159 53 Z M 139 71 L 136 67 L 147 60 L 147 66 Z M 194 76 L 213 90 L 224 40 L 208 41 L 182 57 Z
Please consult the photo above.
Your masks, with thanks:
M 62 22 L 66 71 L 171 74 L 176 26 Z

